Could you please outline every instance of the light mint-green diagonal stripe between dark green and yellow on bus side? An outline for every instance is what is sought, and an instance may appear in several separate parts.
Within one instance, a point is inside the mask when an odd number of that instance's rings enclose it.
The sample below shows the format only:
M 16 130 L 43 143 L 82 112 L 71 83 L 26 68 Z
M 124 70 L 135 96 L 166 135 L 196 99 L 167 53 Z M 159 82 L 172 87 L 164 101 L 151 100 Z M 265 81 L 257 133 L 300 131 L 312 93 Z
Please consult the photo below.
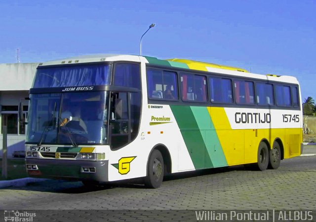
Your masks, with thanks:
M 218 139 L 211 116 L 206 107 L 191 107 L 201 132 L 208 155 L 214 167 L 228 166 L 224 151 Z

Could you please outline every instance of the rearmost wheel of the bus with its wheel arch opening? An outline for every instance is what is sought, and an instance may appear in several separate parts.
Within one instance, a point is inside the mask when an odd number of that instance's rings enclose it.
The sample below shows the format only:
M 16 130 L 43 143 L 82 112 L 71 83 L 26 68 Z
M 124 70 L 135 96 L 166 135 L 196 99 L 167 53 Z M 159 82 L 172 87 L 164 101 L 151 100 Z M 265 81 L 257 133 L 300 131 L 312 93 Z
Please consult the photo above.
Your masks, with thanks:
M 280 166 L 281 159 L 284 158 L 283 145 L 279 138 L 273 142 L 273 146 L 269 149 L 269 169 L 277 169 Z

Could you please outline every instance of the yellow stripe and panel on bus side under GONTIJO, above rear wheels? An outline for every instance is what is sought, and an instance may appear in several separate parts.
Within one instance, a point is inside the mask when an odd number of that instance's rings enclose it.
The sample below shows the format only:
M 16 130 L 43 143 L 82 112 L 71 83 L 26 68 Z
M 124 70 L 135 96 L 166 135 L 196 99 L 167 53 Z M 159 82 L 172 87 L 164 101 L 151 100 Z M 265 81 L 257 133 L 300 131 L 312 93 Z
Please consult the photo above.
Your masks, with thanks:
M 257 162 L 257 151 L 262 139 L 266 139 L 270 146 L 273 146 L 275 139 L 279 138 L 286 150 L 284 158 L 300 155 L 301 128 L 257 129 L 256 136 L 256 129 L 233 130 L 224 108 L 208 107 L 207 110 L 228 165 Z

